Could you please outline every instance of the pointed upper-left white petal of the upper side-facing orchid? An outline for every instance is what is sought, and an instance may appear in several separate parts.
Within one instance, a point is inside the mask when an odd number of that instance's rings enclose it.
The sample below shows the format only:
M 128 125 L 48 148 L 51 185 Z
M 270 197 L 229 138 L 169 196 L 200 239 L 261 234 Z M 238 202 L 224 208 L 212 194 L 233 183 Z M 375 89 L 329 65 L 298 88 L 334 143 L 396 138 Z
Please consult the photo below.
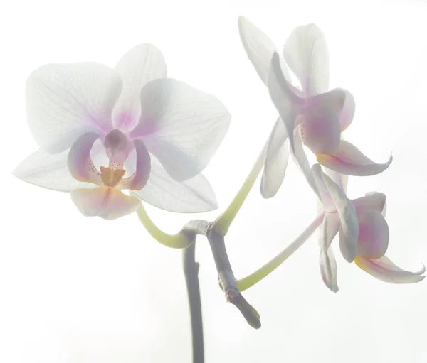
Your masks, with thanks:
M 270 70 L 270 62 L 273 53 L 277 53 L 275 45 L 268 36 L 260 31 L 247 18 L 240 16 L 238 18 L 238 31 L 241 36 L 243 48 L 260 79 L 267 84 L 268 71 Z M 289 80 L 288 69 L 284 66 L 283 72 Z

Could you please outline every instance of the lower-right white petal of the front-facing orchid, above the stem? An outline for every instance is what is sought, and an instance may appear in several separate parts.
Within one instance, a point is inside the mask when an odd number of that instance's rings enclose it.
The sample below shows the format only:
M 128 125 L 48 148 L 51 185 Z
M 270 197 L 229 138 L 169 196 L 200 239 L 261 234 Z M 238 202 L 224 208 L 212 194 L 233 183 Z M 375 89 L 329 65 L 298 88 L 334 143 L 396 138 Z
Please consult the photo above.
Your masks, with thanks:
M 203 175 L 179 183 L 169 176 L 155 158 L 152 158 L 147 184 L 132 194 L 169 212 L 199 213 L 218 208 L 214 190 Z

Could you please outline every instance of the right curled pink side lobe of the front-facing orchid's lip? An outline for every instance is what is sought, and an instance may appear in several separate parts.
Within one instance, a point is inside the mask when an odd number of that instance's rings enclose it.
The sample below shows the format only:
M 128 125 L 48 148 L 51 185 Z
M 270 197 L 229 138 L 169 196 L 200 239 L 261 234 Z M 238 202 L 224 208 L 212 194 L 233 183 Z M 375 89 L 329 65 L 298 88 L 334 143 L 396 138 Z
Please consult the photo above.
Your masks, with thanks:
M 144 141 L 135 140 L 134 145 L 136 150 L 136 171 L 129 178 L 122 179 L 117 188 L 141 190 L 147 184 L 151 170 L 151 158 Z

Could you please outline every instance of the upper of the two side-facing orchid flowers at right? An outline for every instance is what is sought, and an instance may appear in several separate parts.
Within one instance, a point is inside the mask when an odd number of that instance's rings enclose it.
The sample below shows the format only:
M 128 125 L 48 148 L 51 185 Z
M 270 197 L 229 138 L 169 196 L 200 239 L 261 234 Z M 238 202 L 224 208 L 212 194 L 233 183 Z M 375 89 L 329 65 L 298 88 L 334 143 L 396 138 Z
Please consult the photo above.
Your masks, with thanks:
M 286 40 L 283 59 L 272 40 L 246 18 L 239 18 L 241 40 L 249 60 L 280 114 L 270 134 L 265 158 L 261 193 L 273 197 L 283 182 L 289 147 L 298 166 L 314 188 L 307 156 L 288 137 L 298 130 L 302 142 L 322 165 L 347 175 L 375 175 L 388 168 L 392 158 L 374 163 L 356 146 L 341 139 L 352 123 L 354 97 L 340 88 L 329 90 L 329 54 L 325 36 L 315 24 L 295 28 Z M 288 67 L 300 81 L 302 90 L 292 86 Z

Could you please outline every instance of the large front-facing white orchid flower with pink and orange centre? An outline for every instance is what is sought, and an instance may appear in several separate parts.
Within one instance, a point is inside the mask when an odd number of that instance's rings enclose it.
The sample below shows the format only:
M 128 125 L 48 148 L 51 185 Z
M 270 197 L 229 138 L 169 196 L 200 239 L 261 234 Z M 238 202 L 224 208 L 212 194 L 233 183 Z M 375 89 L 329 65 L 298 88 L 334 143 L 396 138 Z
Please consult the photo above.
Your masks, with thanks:
M 135 212 L 140 199 L 173 212 L 216 209 L 200 173 L 226 135 L 230 114 L 211 94 L 167 78 L 154 45 L 137 45 L 114 69 L 40 67 L 28 77 L 26 109 L 41 149 L 14 174 L 70 192 L 83 215 L 112 220 Z

